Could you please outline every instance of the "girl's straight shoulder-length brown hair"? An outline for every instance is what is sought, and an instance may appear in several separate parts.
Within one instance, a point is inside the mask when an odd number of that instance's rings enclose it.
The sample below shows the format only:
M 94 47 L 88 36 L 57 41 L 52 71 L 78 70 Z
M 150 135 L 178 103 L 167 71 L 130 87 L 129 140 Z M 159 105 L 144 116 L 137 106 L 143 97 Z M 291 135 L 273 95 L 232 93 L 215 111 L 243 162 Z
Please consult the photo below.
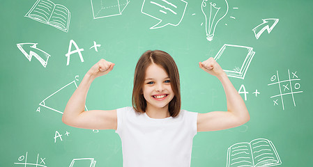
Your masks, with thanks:
M 181 111 L 181 85 L 177 65 L 174 59 L 165 51 L 148 50 L 139 58 L 135 68 L 132 107 L 139 113 L 146 112 L 146 99 L 144 99 L 142 94 L 142 87 L 144 86 L 146 69 L 153 63 L 162 67 L 169 75 L 171 89 L 174 92 L 174 97 L 169 102 L 169 114 L 172 117 L 176 117 Z

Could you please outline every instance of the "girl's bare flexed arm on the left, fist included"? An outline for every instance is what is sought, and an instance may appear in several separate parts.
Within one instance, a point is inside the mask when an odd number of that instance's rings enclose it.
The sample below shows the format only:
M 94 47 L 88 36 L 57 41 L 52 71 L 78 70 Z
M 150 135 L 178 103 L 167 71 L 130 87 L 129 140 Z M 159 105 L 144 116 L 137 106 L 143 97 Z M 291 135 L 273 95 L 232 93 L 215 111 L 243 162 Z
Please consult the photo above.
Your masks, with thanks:
M 116 110 L 84 111 L 86 97 L 91 83 L 96 77 L 109 73 L 114 65 L 114 63 L 101 59 L 85 74 L 84 79 L 82 79 L 82 82 L 72 94 L 70 100 L 68 100 L 68 104 L 66 104 L 66 109 L 62 116 L 62 121 L 66 125 L 84 129 L 116 129 Z

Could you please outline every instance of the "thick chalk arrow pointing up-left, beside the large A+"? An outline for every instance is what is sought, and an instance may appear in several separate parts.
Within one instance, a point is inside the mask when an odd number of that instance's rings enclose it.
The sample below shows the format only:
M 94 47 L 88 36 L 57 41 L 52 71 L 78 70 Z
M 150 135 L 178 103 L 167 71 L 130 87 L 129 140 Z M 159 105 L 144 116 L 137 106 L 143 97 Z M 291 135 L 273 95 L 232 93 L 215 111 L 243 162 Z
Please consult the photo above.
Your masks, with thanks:
M 38 61 L 43 65 L 43 67 L 47 66 L 49 54 L 45 51 L 37 48 L 37 43 L 20 43 L 17 44 L 18 49 L 22 51 L 24 56 L 26 56 L 29 61 L 34 56 L 38 59 Z M 29 54 L 28 54 L 29 53 Z

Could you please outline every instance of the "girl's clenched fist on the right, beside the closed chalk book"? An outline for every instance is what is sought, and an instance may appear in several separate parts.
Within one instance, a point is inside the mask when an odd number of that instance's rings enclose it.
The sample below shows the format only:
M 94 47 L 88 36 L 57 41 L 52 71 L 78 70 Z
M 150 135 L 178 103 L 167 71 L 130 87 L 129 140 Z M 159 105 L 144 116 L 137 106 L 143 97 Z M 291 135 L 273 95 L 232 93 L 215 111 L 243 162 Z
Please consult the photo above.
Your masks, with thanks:
M 219 77 L 222 74 L 225 74 L 222 67 L 214 60 L 213 57 L 208 58 L 208 60 L 204 62 L 199 62 L 199 66 L 202 70 L 208 72 L 208 74 L 214 75 L 215 77 Z

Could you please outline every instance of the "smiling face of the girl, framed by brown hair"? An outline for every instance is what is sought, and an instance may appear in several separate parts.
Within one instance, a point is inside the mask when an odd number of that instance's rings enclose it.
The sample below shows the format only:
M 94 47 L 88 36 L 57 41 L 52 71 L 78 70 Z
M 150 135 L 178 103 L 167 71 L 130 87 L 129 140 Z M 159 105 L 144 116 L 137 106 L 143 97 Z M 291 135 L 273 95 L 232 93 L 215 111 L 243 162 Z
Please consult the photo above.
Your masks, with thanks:
M 169 102 L 174 97 L 169 75 L 162 67 L 155 64 L 147 67 L 142 90 L 146 99 L 147 109 L 164 107 L 168 109 Z

